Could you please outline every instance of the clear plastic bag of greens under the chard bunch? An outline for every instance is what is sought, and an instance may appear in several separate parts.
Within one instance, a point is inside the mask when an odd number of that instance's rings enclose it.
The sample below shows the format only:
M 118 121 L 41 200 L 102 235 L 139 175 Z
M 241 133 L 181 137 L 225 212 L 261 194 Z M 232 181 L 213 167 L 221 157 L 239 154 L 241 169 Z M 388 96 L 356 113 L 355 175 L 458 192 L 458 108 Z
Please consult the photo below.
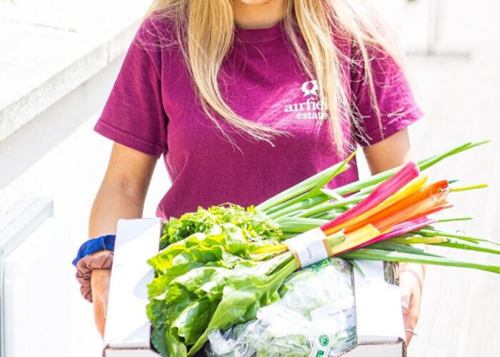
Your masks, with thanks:
M 253 321 L 211 331 L 212 357 L 338 356 L 356 344 L 352 267 L 329 258 L 297 271 L 280 288 L 281 299 L 259 308 Z M 323 346 L 324 345 L 324 346 Z

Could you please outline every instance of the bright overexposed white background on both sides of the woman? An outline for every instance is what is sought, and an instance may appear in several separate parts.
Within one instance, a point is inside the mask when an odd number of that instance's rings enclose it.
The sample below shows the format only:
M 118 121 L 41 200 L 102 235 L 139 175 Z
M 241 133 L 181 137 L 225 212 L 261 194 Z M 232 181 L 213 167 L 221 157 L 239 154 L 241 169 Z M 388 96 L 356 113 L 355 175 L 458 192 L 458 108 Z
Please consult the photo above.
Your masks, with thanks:
M 453 229 L 498 240 L 500 4 L 371 2 L 407 55 L 426 114 L 410 129 L 416 158 L 493 140 L 445 161 L 431 176 L 489 183 L 457 194 L 454 216 L 475 218 Z M 92 127 L 149 0 L 14 3 L 0 0 L 1 357 L 100 356 L 91 304 L 79 295 L 71 259 L 87 238 L 111 149 Z M 144 216 L 154 216 L 168 187 L 160 162 Z M 430 267 L 409 356 L 500 356 L 498 296 L 500 276 Z

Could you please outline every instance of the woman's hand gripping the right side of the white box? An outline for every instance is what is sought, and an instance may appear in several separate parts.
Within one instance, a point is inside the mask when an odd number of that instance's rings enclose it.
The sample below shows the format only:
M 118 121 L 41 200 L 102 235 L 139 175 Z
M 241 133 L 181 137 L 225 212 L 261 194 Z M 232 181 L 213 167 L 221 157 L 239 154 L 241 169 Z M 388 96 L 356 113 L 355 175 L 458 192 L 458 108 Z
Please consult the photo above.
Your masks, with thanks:
M 419 320 L 422 288 L 424 288 L 425 269 L 421 264 L 399 264 L 399 291 L 403 309 L 404 332 L 408 345 L 414 336 L 416 322 Z

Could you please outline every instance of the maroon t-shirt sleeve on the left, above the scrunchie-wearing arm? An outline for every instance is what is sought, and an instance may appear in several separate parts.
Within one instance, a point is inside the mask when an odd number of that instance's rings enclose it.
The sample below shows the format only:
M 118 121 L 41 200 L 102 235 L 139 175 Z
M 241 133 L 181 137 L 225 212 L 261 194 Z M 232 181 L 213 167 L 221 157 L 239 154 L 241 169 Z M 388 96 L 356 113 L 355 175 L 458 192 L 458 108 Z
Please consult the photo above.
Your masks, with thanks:
M 161 51 L 148 50 L 144 26 L 137 32 L 94 130 L 144 154 L 167 151 L 167 116 L 161 100 Z

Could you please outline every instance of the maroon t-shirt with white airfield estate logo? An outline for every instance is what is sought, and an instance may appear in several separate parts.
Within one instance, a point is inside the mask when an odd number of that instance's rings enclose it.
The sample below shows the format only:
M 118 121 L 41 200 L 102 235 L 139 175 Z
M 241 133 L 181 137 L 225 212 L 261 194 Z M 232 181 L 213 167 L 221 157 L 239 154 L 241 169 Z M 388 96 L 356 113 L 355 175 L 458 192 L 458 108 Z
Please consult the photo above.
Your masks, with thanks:
M 296 60 L 281 23 L 269 29 L 236 29 L 221 71 L 221 90 L 231 109 L 289 133 L 276 136 L 272 146 L 231 134 L 221 121 L 237 147 L 224 139 L 201 108 L 173 38 L 166 21 L 141 26 L 95 127 L 119 144 L 164 155 L 171 188 L 159 203 L 158 216 L 180 216 L 198 206 L 226 202 L 258 204 L 343 159 L 336 154 L 328 121 L 318 124 L 324 104 L 316 81 Z M 344 52 L 346 59 L 357 56 L 349 45 Z M 378 55 L 370 65 L 382 126 L 372 109 L 362 66 L 345 60 L 346 94 L 357 108 L 361 128 L 344 125 L 348 143 L 374 144 L 421 116 L 394 60 Z M 357 178 L 354 164 L 329 186 Z

